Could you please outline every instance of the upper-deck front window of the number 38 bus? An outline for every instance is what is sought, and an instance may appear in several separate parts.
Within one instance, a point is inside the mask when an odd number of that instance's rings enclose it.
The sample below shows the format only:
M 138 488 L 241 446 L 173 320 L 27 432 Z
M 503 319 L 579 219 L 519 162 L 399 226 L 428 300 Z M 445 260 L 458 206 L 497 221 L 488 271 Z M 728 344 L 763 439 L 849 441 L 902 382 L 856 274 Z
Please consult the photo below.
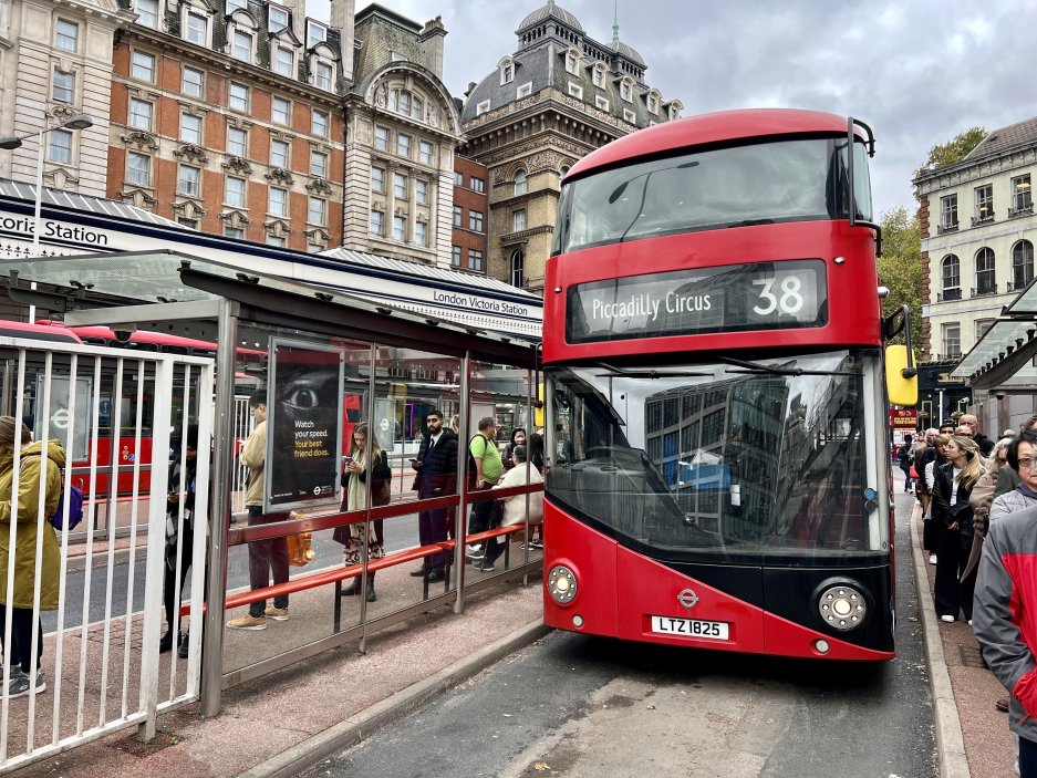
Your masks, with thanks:
M 854 218 L 872 220 L 868 154 L 855 143 Z M 779 221 L 849 218 L 846 136 L 770 141 L 653 159 L 562 189 L 552 253 Z

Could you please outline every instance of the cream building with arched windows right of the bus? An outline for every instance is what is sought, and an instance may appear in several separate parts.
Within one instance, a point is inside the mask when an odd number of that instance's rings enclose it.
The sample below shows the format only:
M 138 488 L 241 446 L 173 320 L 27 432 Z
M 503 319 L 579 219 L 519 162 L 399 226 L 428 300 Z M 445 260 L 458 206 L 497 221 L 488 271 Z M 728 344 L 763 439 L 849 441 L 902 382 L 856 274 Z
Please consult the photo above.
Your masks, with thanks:
M 989 133 L 914 179 L 922 226 L 924 359 L 968 352 L 1034 280 L 1037 118 Z

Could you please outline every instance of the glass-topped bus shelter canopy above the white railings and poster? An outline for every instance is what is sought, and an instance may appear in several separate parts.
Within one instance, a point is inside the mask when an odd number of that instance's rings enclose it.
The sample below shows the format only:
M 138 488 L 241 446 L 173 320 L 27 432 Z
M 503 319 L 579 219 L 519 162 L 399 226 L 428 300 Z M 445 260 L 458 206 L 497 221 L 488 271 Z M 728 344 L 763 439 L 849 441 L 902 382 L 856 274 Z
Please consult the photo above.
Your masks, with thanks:
M 70 324 L 107 324 L 97 309 L 126 305 L 145 307 L 142 324 L 143 319 L 172 321 L 182 311 L 186 312 L 184 318 L 198 318 L 199 311 L 209 311 L 209 318 L 215 318 L 216 303 L 226 299 L 239 303 L 238 317 L 245 321 L 435 347 L 458 356 L 470 353 L 475 359 L 523 367 L 536 362 L 536 343 L 520 335 L 458 324 L 338 289 L 245 272 L 172 250 L 0 261 L 0 277 L 10 279 L 13 300 L 55 312 Z M 30 291 L 30 282 L 45 288 Z M 114 310 L 111 319 L 126 321 Z

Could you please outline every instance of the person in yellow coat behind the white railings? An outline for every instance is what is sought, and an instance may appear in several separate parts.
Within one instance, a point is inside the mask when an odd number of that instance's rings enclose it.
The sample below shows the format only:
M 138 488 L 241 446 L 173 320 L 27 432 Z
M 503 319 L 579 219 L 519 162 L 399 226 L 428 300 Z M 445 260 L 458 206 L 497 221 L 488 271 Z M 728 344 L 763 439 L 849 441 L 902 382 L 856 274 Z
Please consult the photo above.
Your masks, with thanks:
M 11 541 L 11 496 L 14 481 L 15 437 L 21 447 L 18 478 L 18 516 L 14 528 L 14 588 L 8 590 L 8 561 Z M 35 691 L 43 692 L 46 683 L 40 660 L 43 656 L 43 626 L 39 616 L 33 619 L 32 602 L 37 585 L 37 539 L 42 532 L 43 556 L 40 567 L 40 610 L 58 610 L 59 567 L 61 557 L 58 537 L 46 519 L 58 510 L 61 497 L 61 468 L 65 452 L 58 440 L 48 440 L 46 456 L 43 444 L 32 443 L 29 427 L 11 416 L 0 416 L 0 639 L 3 637 L 7 608 L 11 608 L 11 681 L 10 696 L 29 694 L 32 672 L 32 631 L 39 631 L 37 643 Z M 40 507 L 40 470 L 43 476 L 43 517 Z M 2 676 L 0 676 L 2 677 Z

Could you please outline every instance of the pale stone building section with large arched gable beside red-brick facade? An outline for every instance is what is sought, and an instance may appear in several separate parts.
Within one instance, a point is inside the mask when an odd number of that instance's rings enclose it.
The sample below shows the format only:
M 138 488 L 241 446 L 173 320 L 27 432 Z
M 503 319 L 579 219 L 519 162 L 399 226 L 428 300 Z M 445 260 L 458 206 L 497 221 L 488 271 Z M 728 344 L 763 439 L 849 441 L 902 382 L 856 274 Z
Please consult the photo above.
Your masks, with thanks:
M 449 267 L 460 117 L 443 83 L 446 29 L 375 3 L 354 34 L 342 245 Z

